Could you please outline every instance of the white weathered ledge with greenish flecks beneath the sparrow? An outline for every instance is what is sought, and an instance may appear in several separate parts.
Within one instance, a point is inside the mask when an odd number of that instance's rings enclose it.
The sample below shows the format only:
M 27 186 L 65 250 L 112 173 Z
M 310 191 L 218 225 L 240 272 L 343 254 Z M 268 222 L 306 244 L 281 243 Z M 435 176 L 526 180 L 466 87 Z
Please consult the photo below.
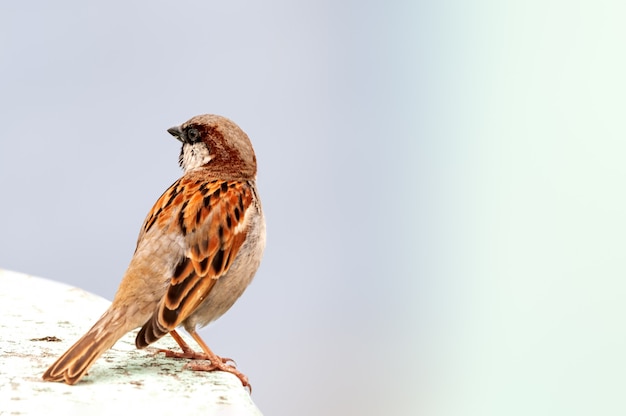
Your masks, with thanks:
M 154 355 L 156 348 L 178 348 L 171 337 L 137 350 L 136 331 L 104 353 L 78 384 L 45 382 L 43 372 L 110 302 L 6 270 L 0 270 L 0 287 L 1 415 L 261 415 L 237 377 L 185 370 L 185 360 Z

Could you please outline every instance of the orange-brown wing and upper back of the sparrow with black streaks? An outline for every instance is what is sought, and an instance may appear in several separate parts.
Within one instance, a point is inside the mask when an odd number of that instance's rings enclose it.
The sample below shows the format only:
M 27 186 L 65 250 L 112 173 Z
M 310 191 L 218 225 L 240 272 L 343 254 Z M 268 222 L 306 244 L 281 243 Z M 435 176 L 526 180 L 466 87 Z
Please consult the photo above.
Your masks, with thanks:
M 180 325 L 226 273 L 246 239 L 246 212 L 253 204 L 253 192 L 247 182 L 183 177 L 159 198 L 139 238 L 152 227 L 175 231 L 185 240 L 185 253 L 158 309 L 137 335 L 137 347 L 147 346 Z

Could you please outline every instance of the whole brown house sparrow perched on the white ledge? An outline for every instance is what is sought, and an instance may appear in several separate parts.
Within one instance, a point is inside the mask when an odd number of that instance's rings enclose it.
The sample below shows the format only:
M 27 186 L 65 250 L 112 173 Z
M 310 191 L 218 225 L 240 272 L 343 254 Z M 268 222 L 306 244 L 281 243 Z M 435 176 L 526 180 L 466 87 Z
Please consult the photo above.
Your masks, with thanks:
M 144 348 L 166 334 L 183 352 L 170 357 L 208 360 L 195 370 L 247 377 L 215 355 L 196 327 L 219 318 L 252 281 L 265 248 L 265 219 L 256 190 L 256 156 L 248 136 L 217 115 L 196 116 L 168 130 L 182 143 L 182 178 L 148 213 L 135 254 L 109 309 L 54 364 L 43 379 L 78 382 L 93 362 L 127 332 L 141 327 Z M 203 352 L 175 328 L 182 325 Z

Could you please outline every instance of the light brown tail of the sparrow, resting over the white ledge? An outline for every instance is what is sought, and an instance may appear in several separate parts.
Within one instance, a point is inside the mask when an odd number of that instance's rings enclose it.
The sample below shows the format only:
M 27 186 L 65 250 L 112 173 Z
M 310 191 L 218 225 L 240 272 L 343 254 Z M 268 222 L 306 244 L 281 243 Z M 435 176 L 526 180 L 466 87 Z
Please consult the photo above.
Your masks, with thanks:
M 43 374 L 46 381 L 75 384 L 106 350 L 130 329 L 123 328 L 107 311 L 96 324 Z

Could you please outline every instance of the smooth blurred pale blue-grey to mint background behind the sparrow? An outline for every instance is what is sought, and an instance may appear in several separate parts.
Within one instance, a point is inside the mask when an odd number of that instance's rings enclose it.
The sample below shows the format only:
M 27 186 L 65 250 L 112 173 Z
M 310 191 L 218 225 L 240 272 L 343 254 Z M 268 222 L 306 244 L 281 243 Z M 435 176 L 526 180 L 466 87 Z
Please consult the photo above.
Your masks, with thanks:
M 625 21 L 605 0 L 4 2 L 0 267 L 112 299 L 181 174 L 166 129 L 222 114 L 255 146 L 268 243 L 202 335 L 262 412 L 622 415 Z

